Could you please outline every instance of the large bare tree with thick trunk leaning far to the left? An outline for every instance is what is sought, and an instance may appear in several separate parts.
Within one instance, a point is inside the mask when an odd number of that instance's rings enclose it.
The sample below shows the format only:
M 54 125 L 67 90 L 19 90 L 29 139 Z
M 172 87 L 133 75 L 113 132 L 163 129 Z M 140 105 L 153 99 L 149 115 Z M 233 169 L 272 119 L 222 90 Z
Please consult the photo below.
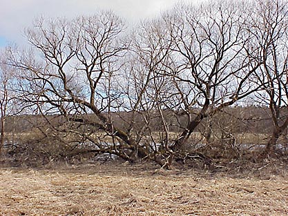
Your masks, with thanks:
M 77 123 L 78 128 L 103 130 L 113 138 L 113 145 L 99 143 L 94 130 L 79 132 L 74 128 L 69 132 L 78 134 L 81 141 L 95 144 L 96 153 L 131 159 L 118 144 L 124 142 L 127 149 L 144 153 L 124 130 L 115 126 L 111 115 L 113 110 L 119 110 L 116 99 L 121 97 L 112 85 L 121 66 L 119 59 L 127 50 L 121 39 L 124 28 L 123 21 L 112 12 L 72 21 L 39 19 L 34 28 L 26 31 L 32 52 L 12 57 L 12 64 L 25 84 L 19 90 L 23 101 L 33 104 L 44 116 L 64 115 L 70 126 Z

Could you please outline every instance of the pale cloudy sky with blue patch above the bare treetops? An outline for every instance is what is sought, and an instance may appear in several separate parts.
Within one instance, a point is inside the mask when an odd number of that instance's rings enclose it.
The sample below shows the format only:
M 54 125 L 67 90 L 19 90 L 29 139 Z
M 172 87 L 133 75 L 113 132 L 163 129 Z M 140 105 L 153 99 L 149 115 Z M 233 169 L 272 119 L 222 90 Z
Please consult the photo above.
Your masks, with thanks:
M 24 43 L 23 29 L 33 19 L 45 17 L 75 17 L 112 9 L 130 23 L 153 17 L 178 0 L 0 0 L 0 47 L 9 42 Z M 199 2 L 204 0 L 184 0 Z

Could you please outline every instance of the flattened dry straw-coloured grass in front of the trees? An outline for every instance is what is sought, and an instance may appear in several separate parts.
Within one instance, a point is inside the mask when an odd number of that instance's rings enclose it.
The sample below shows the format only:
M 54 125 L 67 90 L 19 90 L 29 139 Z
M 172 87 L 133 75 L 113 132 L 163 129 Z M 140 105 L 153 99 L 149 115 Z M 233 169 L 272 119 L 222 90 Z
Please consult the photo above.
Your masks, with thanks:
M 288 175 L 267 172 L 0 168 L 0 215 L 288 215 Z

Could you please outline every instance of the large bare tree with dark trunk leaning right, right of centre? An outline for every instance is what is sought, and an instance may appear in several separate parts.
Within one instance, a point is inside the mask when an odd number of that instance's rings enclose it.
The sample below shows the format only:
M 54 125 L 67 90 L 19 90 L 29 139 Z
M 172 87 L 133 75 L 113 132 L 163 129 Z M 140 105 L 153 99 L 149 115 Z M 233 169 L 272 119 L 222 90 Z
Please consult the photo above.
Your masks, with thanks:
M 250 57 L 244 1 L 177 7 L 166 20 L 173 49 L 166 69 L 175 84 L 185 129 L 173 145 L 180 150 L 202 119 L 244 99 L 260 86 L 249 81 L 260 66 Z

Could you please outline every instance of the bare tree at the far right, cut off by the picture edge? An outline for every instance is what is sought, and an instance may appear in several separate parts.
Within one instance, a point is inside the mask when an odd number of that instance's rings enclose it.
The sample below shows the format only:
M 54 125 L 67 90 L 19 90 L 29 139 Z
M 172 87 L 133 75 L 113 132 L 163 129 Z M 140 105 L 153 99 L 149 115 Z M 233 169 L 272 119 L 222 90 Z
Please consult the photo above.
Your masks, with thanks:
M 267 143 L 267 152 L 275 150 L 280 135 L 288 126 L 288 4 L 287 1 L 258 1 L 258 8 L 251 14 L 251 41 L 260 48 L 258 55 L 262 66 L 256 80 L 263 88 L 256 98 L 269 106 L 273 132 Z

